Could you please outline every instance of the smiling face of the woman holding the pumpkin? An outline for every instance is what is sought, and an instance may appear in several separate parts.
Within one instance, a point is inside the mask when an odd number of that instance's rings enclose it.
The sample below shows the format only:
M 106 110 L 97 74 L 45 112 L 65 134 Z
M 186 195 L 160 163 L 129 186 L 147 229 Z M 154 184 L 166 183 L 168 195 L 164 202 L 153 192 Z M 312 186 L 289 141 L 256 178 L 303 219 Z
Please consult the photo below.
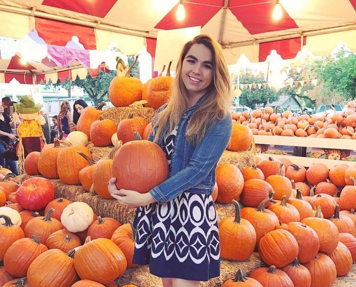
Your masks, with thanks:
M 193 44 L 187 52 L 181 77 L 189 97 L 200 98 L 213 80 L 213 55 L 203 44 Z

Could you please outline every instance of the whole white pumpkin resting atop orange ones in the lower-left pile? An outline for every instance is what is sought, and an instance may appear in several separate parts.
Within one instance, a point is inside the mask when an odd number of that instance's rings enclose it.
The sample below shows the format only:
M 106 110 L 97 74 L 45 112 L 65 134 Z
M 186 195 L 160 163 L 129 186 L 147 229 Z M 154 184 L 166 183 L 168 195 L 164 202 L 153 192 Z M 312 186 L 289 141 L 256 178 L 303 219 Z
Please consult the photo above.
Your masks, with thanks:
M 68 231 L 75 233 L 86 230 L 93 218 L 94 212 L 88 204 L 73 202 L 63 209 L 61 222 Z

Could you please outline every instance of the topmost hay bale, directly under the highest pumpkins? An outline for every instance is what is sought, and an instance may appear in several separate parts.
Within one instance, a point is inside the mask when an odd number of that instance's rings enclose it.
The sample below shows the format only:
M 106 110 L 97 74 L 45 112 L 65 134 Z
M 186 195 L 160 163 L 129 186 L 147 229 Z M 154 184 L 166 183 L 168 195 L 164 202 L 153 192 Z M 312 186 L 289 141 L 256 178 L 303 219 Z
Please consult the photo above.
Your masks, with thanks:
M 142 117 L 147 121 L 147 123 L 152 122 L 152 118 L 156 110 L 153 108 L 146 107 L 120 107 L 120 108 L 107 108 L 103 110 L 101 117 L 103 119 L 112 120 L 116 125 L 120 123 L 120 121 L 129 118 L 131 114 L 134 117 Z

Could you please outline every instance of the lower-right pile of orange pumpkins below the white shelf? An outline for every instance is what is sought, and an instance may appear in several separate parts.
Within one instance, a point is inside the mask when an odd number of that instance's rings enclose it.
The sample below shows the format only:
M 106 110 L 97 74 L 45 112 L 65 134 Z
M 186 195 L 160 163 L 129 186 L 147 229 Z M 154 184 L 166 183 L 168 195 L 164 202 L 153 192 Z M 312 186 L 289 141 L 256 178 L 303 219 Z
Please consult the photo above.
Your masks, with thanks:
M 216 202 L 232 201 L 236 210 L 219 223 L 221 257 L 243 261 L 258 251 L 268 266 L 249 277 L 237 270 L 223 287 L 331 287 L 351 271 L 356 167 L 329 170 L 317 163 L 307 169 L 288 159 L 256 156 L 253 166 L 242 170 L 220 164 L 216 175 Z

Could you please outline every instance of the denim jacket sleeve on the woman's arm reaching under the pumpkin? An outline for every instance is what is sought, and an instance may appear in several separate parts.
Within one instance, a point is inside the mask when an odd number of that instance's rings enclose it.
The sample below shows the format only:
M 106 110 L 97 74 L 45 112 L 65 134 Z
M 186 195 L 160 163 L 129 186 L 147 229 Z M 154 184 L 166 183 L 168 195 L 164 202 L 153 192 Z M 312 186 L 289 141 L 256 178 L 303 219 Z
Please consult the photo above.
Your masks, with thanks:
M 159 204 L 170 201 L 204 180 L 218 163 L 230 139 L 231 132 L 230 115 L 217 121 L 195 148 L 186 166 L 150 190 L 155 200 Z M 207 189 L 209 188 L 207 187 Z

